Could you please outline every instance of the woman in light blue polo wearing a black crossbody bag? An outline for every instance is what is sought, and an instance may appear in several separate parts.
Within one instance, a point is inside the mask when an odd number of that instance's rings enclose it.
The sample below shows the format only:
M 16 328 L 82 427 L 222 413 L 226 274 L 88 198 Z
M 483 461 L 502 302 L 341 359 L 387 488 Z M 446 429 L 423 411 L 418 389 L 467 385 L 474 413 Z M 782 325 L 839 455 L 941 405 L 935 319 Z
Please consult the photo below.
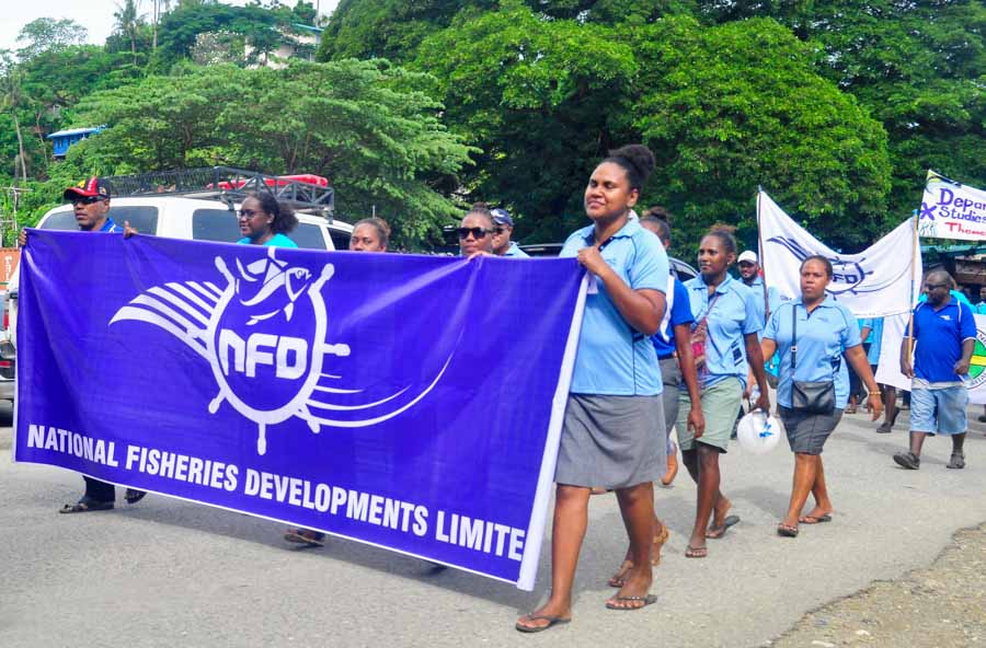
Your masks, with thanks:
M 822 447 L 838 425 L 849 400 L 849 372 L 842 362 L 844 355 L 870 391 L 873 420 L 880 417 L 883 409 L 880 390 L 862 350 L 856 317 L 849 309 L 825 293 L 830 280 L 832 263 L 827 258 L 816 255 L 804 259 L 801 264 L 801 297 L 775 311 L 764 332 L 764 355 L 780 351 L 777 402 L 788 442 L 794 453 L 791 504 L 788 514 L 777 525 L 778 534 L 788 537 L 798 536 L 799 522 L 817 524 L 832 520 Z M 795 408 L 794 381 L 832 382 L 835 396 L 832 410 Z M 802 516 L 809 493 L 815 496 L 815 508 Z

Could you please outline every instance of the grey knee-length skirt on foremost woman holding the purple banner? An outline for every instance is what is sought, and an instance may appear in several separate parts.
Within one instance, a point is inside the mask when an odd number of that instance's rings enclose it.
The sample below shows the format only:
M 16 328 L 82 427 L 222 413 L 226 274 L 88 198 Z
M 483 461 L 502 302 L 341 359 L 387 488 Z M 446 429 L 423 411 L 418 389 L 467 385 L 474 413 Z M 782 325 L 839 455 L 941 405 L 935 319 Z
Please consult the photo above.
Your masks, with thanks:
M 661 396 L 570 394 L 554 481 L 628 488 L 658 479 L 665 465 Z

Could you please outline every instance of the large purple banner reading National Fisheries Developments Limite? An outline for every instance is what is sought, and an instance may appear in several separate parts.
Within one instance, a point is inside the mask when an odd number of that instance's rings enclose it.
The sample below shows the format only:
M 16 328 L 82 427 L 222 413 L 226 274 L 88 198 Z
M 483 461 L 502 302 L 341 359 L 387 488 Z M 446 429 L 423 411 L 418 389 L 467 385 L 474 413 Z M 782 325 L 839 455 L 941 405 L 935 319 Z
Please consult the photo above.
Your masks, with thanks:
M 531 589 L 582 275 L 32 231 L 14 458 Z

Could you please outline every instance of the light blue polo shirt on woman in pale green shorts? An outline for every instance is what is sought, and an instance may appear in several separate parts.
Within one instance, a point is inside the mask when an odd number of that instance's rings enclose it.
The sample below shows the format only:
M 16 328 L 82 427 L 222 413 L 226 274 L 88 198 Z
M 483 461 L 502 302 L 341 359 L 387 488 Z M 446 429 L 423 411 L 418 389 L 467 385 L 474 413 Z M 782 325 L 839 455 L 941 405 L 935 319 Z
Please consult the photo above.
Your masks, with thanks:
M 702 386 L 736 377 L 746 387 L 746 335 L 758 334 L 764 328 L 758 319 L 756 298 L 742 281 L 726 274 L 725 280 L 715 287 L 715 296 L 709 296 L 709 286 L 702 276 L 685 282 L 688 289 L 688 301 L 695 314 L 695 326 L 709 312 L 709 304 L 715 299 L 708 321 L 706 336 L 706 366 L 699 371 Z M 761 300 L 763 301 L 763 300 Z

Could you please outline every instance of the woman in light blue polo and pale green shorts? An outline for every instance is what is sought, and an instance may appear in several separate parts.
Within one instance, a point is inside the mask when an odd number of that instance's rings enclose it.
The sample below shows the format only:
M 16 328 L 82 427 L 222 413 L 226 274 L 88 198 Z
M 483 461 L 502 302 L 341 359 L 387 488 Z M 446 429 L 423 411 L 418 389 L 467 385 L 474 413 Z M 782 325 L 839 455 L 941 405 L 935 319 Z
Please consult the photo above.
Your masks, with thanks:
M 692 350 L 706 418 L 702 433 L 689 429 L 684 413 L 691 408 L 691 400 L 683 392 L 676 426 L 678 445 L 685 466 L 698 485 L 695 526 L 685 552 L 688 558 L 704 558 L 706 539 L 722 537 L 740 521 L 737 516 L 729 514 L 732 502 L 719 490 L 719 454 L 729 445 L 748 367 L 760 389 L 757 406 L 765 412 L 770 409 L 764 357 L 757 339 L 763 328 L 756 304 L 758 296 L 730 276 L 729 268 L 734 261 L 736 241 L 731 229 L 713 227 L 699 245 L 699 276 L 685 282 L 696 320 Z

